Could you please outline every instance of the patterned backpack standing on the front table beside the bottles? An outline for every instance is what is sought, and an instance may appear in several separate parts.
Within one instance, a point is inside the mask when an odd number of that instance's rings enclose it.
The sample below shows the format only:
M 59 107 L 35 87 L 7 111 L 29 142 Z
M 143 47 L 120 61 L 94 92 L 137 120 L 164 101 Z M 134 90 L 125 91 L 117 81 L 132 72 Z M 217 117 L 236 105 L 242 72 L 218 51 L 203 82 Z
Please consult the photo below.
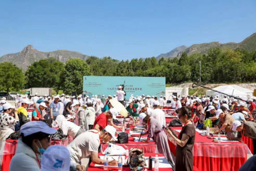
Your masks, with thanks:
M 132 148 L 129 153 L 129 165 L 132 171 L 142 171 L 146 166 L 146 159 L 143 150 Z

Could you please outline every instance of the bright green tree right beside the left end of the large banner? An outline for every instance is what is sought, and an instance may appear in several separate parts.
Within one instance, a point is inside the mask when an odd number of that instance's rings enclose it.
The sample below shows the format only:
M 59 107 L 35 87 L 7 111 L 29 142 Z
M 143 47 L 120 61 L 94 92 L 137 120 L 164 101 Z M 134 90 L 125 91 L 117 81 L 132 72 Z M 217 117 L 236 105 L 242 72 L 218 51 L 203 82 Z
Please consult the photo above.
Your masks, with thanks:
M 100 67 L 100 66 L 99 66 Z M 71 58 L 65 63 L 61 83 L 65 94 L 83 93 L 83 76 L 91 75 L 89 65 L 80 58 Z

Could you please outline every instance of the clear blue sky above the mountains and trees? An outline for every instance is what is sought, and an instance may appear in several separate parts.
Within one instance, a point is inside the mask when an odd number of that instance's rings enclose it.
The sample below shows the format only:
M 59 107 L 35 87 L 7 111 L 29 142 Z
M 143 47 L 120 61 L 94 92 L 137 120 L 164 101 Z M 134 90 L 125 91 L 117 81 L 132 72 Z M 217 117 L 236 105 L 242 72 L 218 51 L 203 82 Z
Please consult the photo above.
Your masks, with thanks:
M 181 45 L 241 42 L 256 1 L 1 1 L 0 56 L 31 44 L 97 57 L 158 56 Z

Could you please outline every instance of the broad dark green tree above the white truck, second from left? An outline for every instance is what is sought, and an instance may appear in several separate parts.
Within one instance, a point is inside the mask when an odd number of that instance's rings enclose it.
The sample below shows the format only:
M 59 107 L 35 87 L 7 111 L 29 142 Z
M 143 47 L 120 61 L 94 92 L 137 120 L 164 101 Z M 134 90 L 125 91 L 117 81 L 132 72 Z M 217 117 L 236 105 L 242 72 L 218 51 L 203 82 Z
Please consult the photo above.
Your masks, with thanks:
M 34 62 L 25 72 L 26 87 L 54 87 L 58 91 L 59 77 L 63 70 L 64 64 L 55 58 Z

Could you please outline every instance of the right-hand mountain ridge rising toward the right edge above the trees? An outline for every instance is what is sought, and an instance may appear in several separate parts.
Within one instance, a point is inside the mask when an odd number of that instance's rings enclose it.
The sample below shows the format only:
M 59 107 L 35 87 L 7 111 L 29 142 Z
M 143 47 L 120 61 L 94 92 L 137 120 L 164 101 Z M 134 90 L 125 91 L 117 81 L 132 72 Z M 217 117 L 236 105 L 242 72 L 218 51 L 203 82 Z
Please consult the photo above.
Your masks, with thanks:
M 240 43 L 220 43 L 220 42 L 210 42 L 210 43 L 202 43 L 202 44 L 194 44 L 191 45 L 190 47 L 186 46 L 180 46 L 177 47 L 166 54 L 160 54 L 157 56 L 157 59 L 160 59 L 161 57 L 180 57 L 183 52 L 187 52 L 188 55 L 191 55 L 193 53 L 206 53 L 207 50 L 214 48 L 214 47 L 220 47 L 221 49 L 225 48 L 231 48 L 231 49 L 244 49 L 247 51 L 252 51 L 256 50 L 256 33 L 253 33 L 249 37 L 245 38 L 244 41 Z

